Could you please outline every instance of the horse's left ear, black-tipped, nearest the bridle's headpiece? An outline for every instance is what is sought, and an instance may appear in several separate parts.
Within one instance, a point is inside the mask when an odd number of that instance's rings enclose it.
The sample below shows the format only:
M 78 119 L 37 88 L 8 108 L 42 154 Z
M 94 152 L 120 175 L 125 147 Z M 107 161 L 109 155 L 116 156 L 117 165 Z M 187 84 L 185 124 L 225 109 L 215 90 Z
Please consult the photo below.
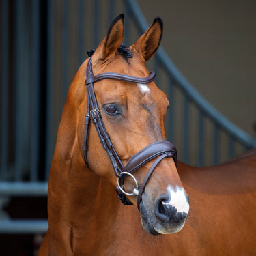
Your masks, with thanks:
M 117 48 L 122 44 L 124 39 L 124 14 L 119 14 L 111 23 L 106 38 L 96 49 L 96 55 L 100 53 L 102 60 L 110 55 L 115 54 Z

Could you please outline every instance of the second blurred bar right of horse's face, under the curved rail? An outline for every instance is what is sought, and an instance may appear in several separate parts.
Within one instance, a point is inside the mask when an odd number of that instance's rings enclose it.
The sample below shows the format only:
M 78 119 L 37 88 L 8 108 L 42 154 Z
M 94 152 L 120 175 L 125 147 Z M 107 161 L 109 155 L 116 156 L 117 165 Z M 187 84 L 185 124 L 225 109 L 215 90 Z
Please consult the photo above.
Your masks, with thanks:
M 189 125 L 189 102 L 188 95 L 184 94 L 184 112 L 183 112 L 183 160 L 188 163 L 188 125 Z

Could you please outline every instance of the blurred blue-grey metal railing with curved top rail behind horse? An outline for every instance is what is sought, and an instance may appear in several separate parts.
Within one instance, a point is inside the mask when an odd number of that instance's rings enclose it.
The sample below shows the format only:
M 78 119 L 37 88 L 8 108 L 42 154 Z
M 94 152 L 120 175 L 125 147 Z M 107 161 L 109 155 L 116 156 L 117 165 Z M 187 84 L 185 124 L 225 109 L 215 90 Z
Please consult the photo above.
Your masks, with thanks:
M 130 45 L 148 25 L 134 0 L 12 1 L 1 4 L 0 197 L 46 196 L 57 127 L 68 86 L 87 50 L 124 12 Z M 10 14 L 14 14 L 10 16 Z M 216 164 L 255 145 L 186 81 L 160 48 L 149 68 L 167 93 L 167 138 L 180 159 Z M 0 220 L 0 233 L 33 233 L 46 220 Z

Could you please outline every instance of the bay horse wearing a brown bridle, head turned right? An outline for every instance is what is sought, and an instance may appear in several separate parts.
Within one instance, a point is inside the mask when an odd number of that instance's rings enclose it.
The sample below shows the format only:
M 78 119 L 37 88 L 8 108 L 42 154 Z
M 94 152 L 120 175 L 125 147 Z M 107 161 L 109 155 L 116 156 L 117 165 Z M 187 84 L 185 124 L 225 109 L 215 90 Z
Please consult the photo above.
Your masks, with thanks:
M 145 68 L 162 20 L 129 48 L 123 20 L 70 85 L 38 255 L 256 255 L 256 150 L 214 167 L 177 161 L 167 96 Z

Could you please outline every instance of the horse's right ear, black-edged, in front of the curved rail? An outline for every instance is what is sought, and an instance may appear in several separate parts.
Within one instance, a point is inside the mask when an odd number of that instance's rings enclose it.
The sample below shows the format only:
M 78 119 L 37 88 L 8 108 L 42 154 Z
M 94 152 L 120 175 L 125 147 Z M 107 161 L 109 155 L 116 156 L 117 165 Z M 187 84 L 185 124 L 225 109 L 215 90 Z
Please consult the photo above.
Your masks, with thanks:
M 162 39 L 162 19 L 157 17 L 152 25 L 134 44 L 139 55 L 142 55 L 145 61 L 148 61 L 156 53 Z

